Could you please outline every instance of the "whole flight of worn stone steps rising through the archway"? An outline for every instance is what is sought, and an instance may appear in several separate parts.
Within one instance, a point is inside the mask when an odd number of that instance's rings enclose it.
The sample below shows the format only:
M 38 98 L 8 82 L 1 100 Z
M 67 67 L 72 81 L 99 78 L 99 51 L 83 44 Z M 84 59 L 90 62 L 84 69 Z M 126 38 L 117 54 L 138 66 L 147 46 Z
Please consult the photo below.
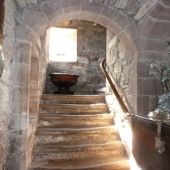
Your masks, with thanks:
M 31 170 L 129 170 L 102 95 L 43 95 Z

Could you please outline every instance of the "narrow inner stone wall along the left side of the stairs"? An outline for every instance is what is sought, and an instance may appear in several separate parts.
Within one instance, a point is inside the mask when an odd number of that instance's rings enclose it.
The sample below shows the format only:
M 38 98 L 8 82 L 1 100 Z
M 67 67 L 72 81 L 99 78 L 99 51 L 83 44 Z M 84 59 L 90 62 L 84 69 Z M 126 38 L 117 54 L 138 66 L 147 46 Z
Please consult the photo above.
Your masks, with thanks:
M 36 123 L 38 118 L 38 107 L 45 84 L 45 75 L 48 60 L 46 58 L 46 33 L 42 34 L 33 43 L 31 49 L 30 87 L 29 87 L 29 126 L 27 130 L 26 167 L 31 165 L 32 149 Z

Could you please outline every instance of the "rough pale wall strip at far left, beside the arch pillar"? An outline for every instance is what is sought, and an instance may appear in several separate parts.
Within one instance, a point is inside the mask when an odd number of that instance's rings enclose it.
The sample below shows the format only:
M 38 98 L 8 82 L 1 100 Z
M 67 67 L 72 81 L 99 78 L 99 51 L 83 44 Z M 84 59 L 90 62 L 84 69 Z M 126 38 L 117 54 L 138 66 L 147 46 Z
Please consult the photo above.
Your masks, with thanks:
M 0 78 L 0 170 L 4 170 L 5 168 L 5 159 L 8 155 L 8 151 L 14 153 L 18 149 L 15 140 L 13 140 L 11 136 L 11 133 L 14 131 L 11 129 L 11 126 L 8 127 L 9 121 L 12 121 L 12 119 L 10 119 L 12 116 L 10 111 L 10 69 L 11 63 L 13 62 L 12 58 L 14 56 L 15 13 L 16 5 L 14 1 L 5 0 L 4 41 L 2 46 L 5 67 L 2 77 Z M 10 133 L 8 133 L 8 129 Z M 13 145 L 10 148 L 8 137 L 13 141 Z

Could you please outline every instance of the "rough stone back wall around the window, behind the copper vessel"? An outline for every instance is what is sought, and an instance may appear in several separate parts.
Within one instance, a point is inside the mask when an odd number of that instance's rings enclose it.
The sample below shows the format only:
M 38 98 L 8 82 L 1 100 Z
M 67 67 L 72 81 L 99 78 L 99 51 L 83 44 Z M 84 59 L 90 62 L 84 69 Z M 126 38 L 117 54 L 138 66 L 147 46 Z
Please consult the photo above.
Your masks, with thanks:
M 99 64 L 106 56 L 106 29 L 89 21 L 72 20 L 65 27 L 77 29 L 78 60 L 74 63 L 50 62 L 47 72 L 46 93 L 53 93 L 56 87 L 48 74 L 68 72 L 79 75 L 73 87 L 76 94 L 95 94 L 105 87 L 105 78 Z

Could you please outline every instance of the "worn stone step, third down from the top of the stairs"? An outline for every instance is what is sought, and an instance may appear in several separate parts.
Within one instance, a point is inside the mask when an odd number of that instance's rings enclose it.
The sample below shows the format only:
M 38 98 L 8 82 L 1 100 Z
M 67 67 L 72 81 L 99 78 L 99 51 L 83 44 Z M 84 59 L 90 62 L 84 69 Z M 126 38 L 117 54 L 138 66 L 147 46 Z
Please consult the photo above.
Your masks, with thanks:
M 112 114 L 63 115 L 40 114 L 38 127 L 74 128 L 113 125 Z

